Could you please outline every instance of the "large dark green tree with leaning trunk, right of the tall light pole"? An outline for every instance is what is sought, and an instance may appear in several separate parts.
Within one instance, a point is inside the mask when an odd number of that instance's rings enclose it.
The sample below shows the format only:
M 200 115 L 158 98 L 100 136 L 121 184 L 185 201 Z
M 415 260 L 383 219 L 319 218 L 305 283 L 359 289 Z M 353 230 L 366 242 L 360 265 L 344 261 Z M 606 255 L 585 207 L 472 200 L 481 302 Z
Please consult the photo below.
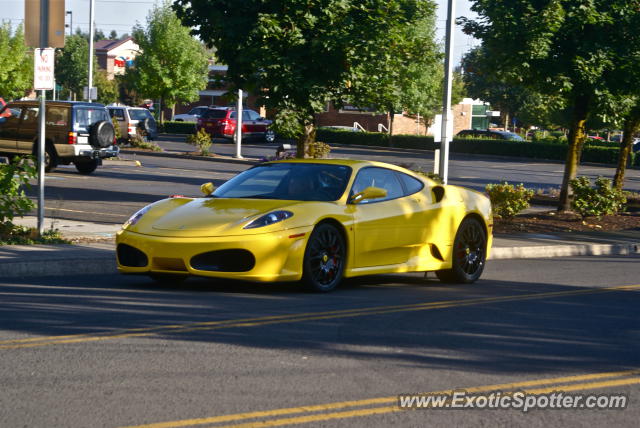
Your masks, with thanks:
M 577 174 L 585 123 L 606 94 L 604 76 L 615 68 L 616 51 L 607 36 L 615 31 L 612 16 L 630 9 L 629 3 L 474 0 L 479 18 L 462 20 L 464 31 L 482 40 L 491 66 L 505 79 L 566 100 L 571 119 L 559 209 L 570 208 L 569 182 Z

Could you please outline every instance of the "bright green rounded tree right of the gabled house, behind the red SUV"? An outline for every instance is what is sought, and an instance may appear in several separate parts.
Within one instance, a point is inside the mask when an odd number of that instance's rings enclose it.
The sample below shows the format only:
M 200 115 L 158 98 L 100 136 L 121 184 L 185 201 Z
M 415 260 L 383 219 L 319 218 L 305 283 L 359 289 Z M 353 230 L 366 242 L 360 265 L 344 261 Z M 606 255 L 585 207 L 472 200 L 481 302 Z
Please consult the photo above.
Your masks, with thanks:
M 134 28 L 133 39 L 141 51 L 133 70 L 138 93 L 159 99 L 161 107 L 166 103 L 172 110 L 178 101 L 198 99 L 208 82 L 204 46 L 181 25 L 167 3 L 151 10 L 146 29 Z

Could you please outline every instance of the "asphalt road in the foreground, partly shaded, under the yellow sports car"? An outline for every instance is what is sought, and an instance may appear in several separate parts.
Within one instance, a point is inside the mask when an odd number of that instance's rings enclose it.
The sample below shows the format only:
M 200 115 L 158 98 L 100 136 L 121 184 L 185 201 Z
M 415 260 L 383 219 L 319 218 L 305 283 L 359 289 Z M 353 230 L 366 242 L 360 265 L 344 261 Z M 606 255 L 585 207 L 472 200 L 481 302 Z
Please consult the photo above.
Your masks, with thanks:
M 0 426 L 620 426 L 640 418 L 638 256 L 297 284 L 0 280 Z M 470 390 L 469 388 L 475 388 Z M 625 410 L 400 410 L 451 389 L 627 394 Z

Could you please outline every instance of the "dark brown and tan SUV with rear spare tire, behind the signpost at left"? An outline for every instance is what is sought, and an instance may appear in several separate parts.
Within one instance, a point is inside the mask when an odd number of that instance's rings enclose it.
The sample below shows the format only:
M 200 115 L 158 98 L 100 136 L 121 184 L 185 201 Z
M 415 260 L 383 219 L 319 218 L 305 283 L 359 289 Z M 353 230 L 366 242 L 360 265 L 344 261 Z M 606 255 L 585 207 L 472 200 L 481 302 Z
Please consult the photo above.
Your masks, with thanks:
M 38 101 L 13 101 L 0 110 L 0 153 L 37 155 Z M 104 105 L 47 101 L 45 171 L 73 162 L 81 174 L 91 174 L 103 158 L 117 156 L 115 130 Z

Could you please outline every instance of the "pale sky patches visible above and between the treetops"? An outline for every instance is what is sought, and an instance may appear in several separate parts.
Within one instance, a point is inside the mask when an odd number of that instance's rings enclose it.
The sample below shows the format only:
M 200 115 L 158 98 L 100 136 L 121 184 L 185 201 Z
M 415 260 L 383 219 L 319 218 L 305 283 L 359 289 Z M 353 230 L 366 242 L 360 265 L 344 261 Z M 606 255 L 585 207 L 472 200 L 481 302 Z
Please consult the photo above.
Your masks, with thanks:
M 38 1 L 38 0 L 27 0 Z M 24 19 L 25 0 L 0 0 L 0 21 L 10 21 L 13 25 L 21 23 Z M 118 35 L 130 34 L 131 28 L 140 23 L 146 24 L 149 9 L 154 4 L 161 3 L 155 0 L 95 0 L 96 29 L 102 30 L 108 35 L 115 30 Z M 447 20 L 447 0 L 436 0 L 438 4 L 437 37 L 444 39 L 444 31 Z M 83 31 L 89 31 L 89 0 L 66 0 L 66 10 L 71 11 L 67 15 L 73 19 L 73 30 L 80 27 Z M 455 0 L 456 17 L 474 16 L 470 11 L 470 0 Z M 478 45 L 478 41 L 463 34 L 458 28 L 454 34 L 454 63 L 457 64 L 464 52 Z

